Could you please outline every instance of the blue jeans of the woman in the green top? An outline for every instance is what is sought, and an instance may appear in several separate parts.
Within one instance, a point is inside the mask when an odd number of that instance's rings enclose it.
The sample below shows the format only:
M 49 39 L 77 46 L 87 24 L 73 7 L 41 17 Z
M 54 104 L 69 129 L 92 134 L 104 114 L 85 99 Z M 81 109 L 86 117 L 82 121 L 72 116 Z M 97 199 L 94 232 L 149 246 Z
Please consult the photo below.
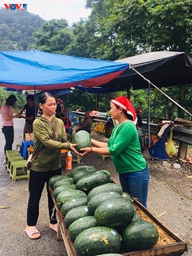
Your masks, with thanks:
M 119 174 L 119 180 L 123 191 L 139 199 L 139 202 L 146 208 L 149 179 L 150 174 L 147 167 L 141 171 Z

